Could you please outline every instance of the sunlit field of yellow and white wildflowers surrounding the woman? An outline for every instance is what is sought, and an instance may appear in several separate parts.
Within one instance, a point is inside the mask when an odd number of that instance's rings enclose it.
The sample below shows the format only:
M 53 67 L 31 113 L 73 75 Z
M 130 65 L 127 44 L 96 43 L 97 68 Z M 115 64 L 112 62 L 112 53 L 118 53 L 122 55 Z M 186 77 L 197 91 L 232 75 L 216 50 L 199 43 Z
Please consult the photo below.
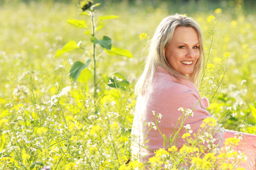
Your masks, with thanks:
M 193 17 L 201 26 L 206 66 L 199 90 L 210 102 L 210 113 L 226 129 L 256 134 L 252 4 L 102 1 L 91 20 L 90 11 L 80 15 L 79 3 L 0 0 L 1 170 L 145 169 L 130 149 L 133 90 L 149 39 L 161 19 L 174 13 Z M 217 126 L 213 120 L 205 123 Z M 181 128 L 190 141 L 189 127 Z M 199 157 L 196 143 L 181 151 L 175 146 L 159 150 L 149 169 L 239 169 L 245 158 L 232 150 L 239 137 L 218 156 L 215 148 Z

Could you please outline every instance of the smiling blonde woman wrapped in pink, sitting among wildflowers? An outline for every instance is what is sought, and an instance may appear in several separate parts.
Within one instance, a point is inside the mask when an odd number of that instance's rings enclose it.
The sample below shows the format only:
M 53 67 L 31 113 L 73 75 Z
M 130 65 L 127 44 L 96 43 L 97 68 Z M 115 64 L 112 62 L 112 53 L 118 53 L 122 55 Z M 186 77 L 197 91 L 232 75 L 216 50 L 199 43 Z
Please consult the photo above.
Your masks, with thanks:
M 149 48 L 145 69 L 140 76 L 135 92 L 137 104 L 133 121 L 132 134 L 136 140 L 132 152 L 140 161 L 146 162 L 154 156 L 155 150 L 164 148 L 163 136 L 158 130 L 145 126 L 155 122 L 155 114 L 161 113 L 158 127 L 167 138 L 174 132 L 182 112 L 179 108 L 193 109 L 193 117 L 185 121 L 193 133 L 200 129 L 202 121 L 211 117 L 206 110 L 208 102 L 201 98 L 196 86 L 204 63 L 202 34 L 198 24 L 190 17 L 173 15 L 166 17 L 157 27 Z M 152 113 L 153 111 L 153 113 Z M 180 124 L 179 124 L 180 125 Z M 179 127 L 179 126 L 178 126 Z M 219 148 L 235 132 L 222 132 L 216 129 L 215 143 Z M 185 128 L 180 135 L 186 133 Z M 248 170 L 256 168 L 256 140 L 254 135 L 246 135 L 238 148 L 243 148 L 247 161 L 241 164 Z M 145 144 L 145 141 L 146 142 Z M 184 140 L 178 136 L 176 147 L 181 148 Z

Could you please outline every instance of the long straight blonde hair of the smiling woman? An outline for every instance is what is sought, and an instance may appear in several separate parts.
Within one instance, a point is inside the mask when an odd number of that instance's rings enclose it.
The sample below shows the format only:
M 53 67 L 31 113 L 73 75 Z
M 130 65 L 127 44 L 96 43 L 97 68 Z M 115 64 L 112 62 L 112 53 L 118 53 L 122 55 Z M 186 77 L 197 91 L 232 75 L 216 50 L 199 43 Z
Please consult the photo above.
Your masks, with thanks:
M 200 57 L 198 58 L 193 72 L 189 76 L 184 76 L 175 70 L 165 57 L 165 49 L 172 41 L 174 30 L 178 26 L 192 27 L 199 39 Z M 184 15 L 175 14 L 165 17 L 155 30 L 155 34 L 149 46 L 149 53 L 146 59 L 144 71 L 135 86 L 136 94 L 144 94 L 150 87 L 155 74 L 156 66 L 165 68 L 171 75 L 179 80 L 190 79 L 196 86 L 199 83 L 199 75 L 204 64 L 203 37 L 199 25 L 191 18 Z

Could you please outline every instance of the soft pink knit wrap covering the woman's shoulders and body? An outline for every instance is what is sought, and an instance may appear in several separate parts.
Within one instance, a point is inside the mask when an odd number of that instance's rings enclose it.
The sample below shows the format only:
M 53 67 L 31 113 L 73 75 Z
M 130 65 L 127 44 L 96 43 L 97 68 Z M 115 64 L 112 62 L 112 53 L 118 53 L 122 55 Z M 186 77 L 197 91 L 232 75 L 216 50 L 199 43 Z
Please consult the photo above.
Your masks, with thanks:
M 197 102 L 198 104 L 196 105 Z M 158 130 L 151 129 L 147 133 L 149 129 L 147 123 L 155 122 L 155 116 L 152 113 L 153 110 L 155 114 L 162 114 L 163 117 L 160 119 L 161 122 L 158 124 L 158 127 L 169 138 L 174 132 L 178 118 L 183 114 L 178 109 L 181 107 L 192 109 L 194 106 L 193 117 L 189 116 L 185 121 L 185 125 L 190 124 L 191 130 L 193 130 L 193 133 L 196 133 L 203 119 L 212 117 L 206 110 L 206 107 L 208 107 L 207 99 L 200 97 L 198 90 L 191 81 L 179 81 L 164 68 L 157 67 L 153 85 L 147 90 L 145 95 L 139 95 L 137 98 L 132 127 L 132 134 L 137 136 L 137 142 L 134 142 L 132 145 L 133 154 L 137 155 L 141 161 L 147 161 L 148 158 L 154 156 L 154 152 L 148 149 L 155 151 L 159 148 L 164 148 L 164 139 Z M 181 138 L 181 135 L 184 133 L 186 133 L 185 128 L 179 133 L 180 136 L 176 145 L 178 148 L 181 148 L 184 144 L 183 138 Z M 218 132 L 214 136 L 217 139 L 215 144 L 219 144 L 219 147 L 222 147 L 223 141 L 228 137 L 234 136 L 235 133 L 233 131 L 227 131 L 224 134 L 223 132 Z M 143 145 L 144 147 L 148 147 L 148 149 L 139 147 L 137 144 L 143 144 L 148 139 L 149 141 Z M 241 164 L 247 170 L 256 169 L 256 143 L 254 141 L 256 141 L 256 136 L 247 134 L 243 140 L 244 147 L 242 148 L 242 144 L 240 144 L 237 148 L 247 154 L 247 161 Z

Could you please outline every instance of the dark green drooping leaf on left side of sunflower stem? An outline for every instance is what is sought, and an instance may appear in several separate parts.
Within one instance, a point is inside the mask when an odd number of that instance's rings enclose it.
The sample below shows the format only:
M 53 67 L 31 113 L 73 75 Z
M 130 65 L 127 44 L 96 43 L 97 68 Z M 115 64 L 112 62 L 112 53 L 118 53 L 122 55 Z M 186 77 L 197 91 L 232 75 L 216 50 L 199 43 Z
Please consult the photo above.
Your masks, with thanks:
M 85 64 L 83 64 L 80 61 L 76 61 L 72 68 L 69 71 L 69 77 L 73 79 L 73 83 L 76 81 L 76 79 L 79 77 L 81 71 L 86 68 L 91 62 L 91 59 L 88 59 Z

